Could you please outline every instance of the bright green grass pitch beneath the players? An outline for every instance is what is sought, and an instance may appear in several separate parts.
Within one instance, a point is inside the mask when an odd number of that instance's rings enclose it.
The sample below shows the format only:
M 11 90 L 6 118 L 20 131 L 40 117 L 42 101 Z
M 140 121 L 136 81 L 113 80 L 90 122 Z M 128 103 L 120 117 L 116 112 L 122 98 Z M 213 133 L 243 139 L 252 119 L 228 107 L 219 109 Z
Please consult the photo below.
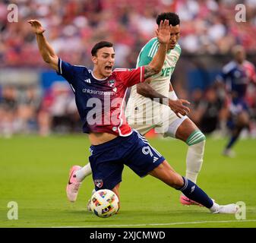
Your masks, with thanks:
M 179 140 L 150 140 L 172 167 L 185 175 L 187 147 Z M 179 191 L 125 168 L 121 210 L 107 219 L 88 213 L 93 189 L 84 180 L 77 202 L 66 199 L 68 171 L 89 156 L 86 135 L 0 138 L 0 227 L 256 227 L 256 141 L 240 140 L 237 156 L 220 155 L 226 140 L 207 138 L 198 185 L 219 204 L 243 201 L 246 219 L 211 214 L 203 207 L 179 204 Z M 8 202 L 18 204 L 18 219 L 8 219 Z

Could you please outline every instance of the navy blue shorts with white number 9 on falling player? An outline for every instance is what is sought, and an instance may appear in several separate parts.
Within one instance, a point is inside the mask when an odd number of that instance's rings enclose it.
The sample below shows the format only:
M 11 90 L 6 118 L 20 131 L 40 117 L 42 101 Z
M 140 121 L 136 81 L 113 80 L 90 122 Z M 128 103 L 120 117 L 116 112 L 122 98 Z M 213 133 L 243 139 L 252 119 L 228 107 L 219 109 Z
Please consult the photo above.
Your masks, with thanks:
M 165 158 L 150 146 L 137 131 L 128 137 L 115 137 L 104 144 L 91 146 L 90 166 L 95 190 L 115 188 L 122 181 L 124 165 L 144 177 Z

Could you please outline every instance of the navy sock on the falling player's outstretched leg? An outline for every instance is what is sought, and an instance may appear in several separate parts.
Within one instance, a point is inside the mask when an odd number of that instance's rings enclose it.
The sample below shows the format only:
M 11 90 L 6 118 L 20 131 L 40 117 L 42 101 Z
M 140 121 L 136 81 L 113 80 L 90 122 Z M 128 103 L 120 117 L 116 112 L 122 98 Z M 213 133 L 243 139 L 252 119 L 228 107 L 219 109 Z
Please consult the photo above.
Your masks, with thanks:
M 188 197 L 191 200 L 196 201 L 198 204 L 202 204 L 204 207 L 210 208 L 213 207 L 213 200 L 208 197 L 208 195 L 198 187 L 198 185 L 195 185 L 194 182 L 188 180 L 188 178 L 183 177 L 184 185 L 182 188 L 179 188 L 177 190 L 182 191 L 183 194 L 185 194 L 186 197 Z

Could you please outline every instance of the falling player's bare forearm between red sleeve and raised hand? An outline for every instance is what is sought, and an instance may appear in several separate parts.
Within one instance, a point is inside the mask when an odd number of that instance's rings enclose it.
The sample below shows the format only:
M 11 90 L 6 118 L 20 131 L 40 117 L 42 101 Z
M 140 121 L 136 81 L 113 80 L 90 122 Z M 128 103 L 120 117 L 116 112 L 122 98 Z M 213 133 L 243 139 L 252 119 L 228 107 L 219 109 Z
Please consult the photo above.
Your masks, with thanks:
M 149 65 L 144 66 L 144 79 L 146 79 L 147 77 L 151 77 L 154 74 L 158 74 L 162 70 L 163 63 L 166 58 L 166 51 L 167 44 L 160 43 L 160 46 L 156 52 L 156 55 L 154 55 L 152 61 L 149 63 Z

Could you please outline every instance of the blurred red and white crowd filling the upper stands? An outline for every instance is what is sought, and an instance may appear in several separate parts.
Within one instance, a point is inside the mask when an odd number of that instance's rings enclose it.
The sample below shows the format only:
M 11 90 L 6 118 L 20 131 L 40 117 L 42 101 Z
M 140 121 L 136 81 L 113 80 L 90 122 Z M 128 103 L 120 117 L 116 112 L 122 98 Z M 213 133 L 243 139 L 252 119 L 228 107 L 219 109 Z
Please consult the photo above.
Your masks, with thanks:
M 18 23 L 8 23 L 7 5 L 16 3 Z M 246 5 L 246 23 L 234 21 L 235 3 Z M 42 66 L 27 20 L 39 19 L 58 55 L 71 63 L 90 63 L 99 39 L 115 43 L 116 64 L 133 67 L 137 52 L 152 38 L 155 17 L 175 11 L 182 21 L 182 52 L 227 53 L 239 43 L 256 51 L 254 0 L 18 0 L 0 3 L 0 66 Z

